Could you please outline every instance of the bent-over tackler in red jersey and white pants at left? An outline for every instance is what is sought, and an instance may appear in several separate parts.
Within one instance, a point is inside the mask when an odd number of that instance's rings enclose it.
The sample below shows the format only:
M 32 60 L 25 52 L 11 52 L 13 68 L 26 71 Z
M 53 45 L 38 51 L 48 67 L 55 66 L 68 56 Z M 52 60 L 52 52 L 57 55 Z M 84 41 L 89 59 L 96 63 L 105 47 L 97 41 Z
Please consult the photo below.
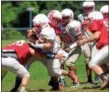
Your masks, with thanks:
M 32 56 L 40 58 L 39 53 L 24 40 L 19 40 L 2 49 L 2 68 L 3 70 L 10 70 L 22 78 L 20 92 L 27 92 L 26 87 L 30 79 L 30 74 L 24 66 Z M 4 72 L 2 71 L 2 73 Z M 2 79 L 6 74 L 3 75 Z

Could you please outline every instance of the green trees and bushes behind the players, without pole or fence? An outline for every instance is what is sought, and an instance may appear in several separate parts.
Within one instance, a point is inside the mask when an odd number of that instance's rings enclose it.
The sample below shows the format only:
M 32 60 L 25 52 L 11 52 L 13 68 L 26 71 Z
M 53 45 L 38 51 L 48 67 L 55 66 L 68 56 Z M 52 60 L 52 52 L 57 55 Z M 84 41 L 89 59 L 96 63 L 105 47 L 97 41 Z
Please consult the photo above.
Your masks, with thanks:
M 96 10 L 109 3 L 109 1 L 95 1 Z M 62 11 L 65 8 L 70 8 L 74 12 L 74 18 L 83 12 L 83 1 L 2 1 L 2 26 L 3 27 L 29 27 L 29 11 L 27 8 L 32 7 L 34 17 L 39 13 L 47 14 L 52 9 Z M 11 32 L 11 31 L 10 31 Z M 8 33 L 13 34 L 13 32 Z M 17 33 L 19 35 L 20 33 Z M 6 34 L 7 35 L 7 34 Z M 22 35 L 25 33 L 22 32 Z M 7 36 L 12 38 L 11 36 Z

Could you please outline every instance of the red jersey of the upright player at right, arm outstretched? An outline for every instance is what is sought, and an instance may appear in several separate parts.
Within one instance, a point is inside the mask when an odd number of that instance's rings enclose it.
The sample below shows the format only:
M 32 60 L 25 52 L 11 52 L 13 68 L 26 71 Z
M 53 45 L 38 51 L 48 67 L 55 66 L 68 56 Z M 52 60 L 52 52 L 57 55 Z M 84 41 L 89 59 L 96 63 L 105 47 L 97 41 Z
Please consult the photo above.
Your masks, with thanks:
M 103 20 L 95 20 L 91 23 L 89 30 L 94 33 L 95 31 L 100 31 L 100 37 L 97 40 L 97 48 L 101 49 L 105 45 L 109 45 L 109 31 L 108 27 L 104 24 Z

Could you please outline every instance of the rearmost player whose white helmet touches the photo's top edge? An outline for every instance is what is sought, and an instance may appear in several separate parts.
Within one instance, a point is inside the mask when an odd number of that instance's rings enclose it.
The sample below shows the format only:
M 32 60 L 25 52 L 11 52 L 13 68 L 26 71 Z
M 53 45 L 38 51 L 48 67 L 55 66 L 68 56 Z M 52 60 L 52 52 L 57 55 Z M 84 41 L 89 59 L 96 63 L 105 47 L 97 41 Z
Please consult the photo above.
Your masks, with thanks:
M 86 24 L 87 24 L 87 17 L 90 12 L 95 11 L 95 2 L 85 1 L 83 2 L 82 7 L 83 7 L 83 14 L 78 15 L 78 20 L 82 23 L 83 33 L 85 34 L 86 37 L 89 37 L 92 35 L 92 33 L 90 31 L 85 30 Z M 97 52 L 95 42 L 91 42 L 88 45 L 90 47 L 91 57 L 93 57 L 94 53 Z M 87 83 L 92 83 L 91 69 L 88 67 L 87 64 L 86 64 L 86 73 L 87 73 L 87 78 L 88 78 Z M 99 83 L 99 81 L 100 81 L 100 78 L 97 75 L 95 75 L 94 83 Z

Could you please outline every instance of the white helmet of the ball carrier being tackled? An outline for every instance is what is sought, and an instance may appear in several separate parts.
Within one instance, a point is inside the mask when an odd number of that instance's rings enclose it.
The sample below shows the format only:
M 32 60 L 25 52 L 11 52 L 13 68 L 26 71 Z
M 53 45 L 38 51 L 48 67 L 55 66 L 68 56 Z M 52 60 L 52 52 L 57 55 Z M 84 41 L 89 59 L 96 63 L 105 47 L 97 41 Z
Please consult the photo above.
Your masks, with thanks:
M 42 29 L 46 27 L 49 23 L 49 19 L 45 14 L 38 14 L 33 18 L 33 26 Z

